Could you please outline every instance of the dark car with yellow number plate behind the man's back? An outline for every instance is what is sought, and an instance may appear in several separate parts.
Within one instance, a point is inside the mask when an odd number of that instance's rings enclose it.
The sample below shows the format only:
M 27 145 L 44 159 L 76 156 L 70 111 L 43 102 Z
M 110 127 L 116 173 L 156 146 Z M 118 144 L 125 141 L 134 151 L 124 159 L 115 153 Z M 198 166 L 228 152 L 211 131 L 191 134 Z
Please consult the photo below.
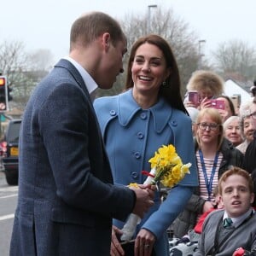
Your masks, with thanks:
M 20 124 L 21 119 L 10 120 L 4 141 L 1 143 L 4 173 L 9 185 L 18 184 Z

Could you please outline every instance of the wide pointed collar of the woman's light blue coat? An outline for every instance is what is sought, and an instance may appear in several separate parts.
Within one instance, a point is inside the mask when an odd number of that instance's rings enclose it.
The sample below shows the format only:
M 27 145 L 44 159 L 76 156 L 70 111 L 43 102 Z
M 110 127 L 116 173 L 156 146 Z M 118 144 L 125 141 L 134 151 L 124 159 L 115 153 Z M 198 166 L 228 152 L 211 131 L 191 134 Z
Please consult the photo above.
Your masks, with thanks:
M 137 104 L 132 96 L 132 89 L 122 93 L 118 97 L 118 117 L 120 125 L 129 125 L 133 116 L 143 109 Z M 160 98 L 152 108 L 148 108 L 153 116 L 154 130 L 161 132 L 166 127 L 172 116 L 172 108 Z

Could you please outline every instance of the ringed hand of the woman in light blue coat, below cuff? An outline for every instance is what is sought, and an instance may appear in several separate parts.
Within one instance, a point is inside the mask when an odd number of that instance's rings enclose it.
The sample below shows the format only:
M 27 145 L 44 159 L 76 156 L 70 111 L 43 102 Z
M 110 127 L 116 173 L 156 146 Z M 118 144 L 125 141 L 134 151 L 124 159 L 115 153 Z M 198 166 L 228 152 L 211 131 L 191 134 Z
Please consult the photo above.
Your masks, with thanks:
M 134 253 L 135 256 L 150 256 L 154 247 L 155 236 L 149 230 L 142 229 L 138 232 Z

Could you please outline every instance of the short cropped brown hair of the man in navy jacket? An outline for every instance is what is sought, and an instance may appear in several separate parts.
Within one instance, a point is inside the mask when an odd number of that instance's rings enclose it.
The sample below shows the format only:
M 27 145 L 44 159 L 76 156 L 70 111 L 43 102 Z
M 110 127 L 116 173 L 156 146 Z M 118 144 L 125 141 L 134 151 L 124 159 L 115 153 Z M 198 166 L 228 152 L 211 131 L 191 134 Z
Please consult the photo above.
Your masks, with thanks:
M 73 22 L 73 26 L 71 27 L 70 50 L 76 44 L 86 47 L 104 32 L 110 34 L 113 46 L 119 41 L 126 40 L 118 21 L 114 20 L 111 16 L 102 12 L 90 12 L 82 15 Z

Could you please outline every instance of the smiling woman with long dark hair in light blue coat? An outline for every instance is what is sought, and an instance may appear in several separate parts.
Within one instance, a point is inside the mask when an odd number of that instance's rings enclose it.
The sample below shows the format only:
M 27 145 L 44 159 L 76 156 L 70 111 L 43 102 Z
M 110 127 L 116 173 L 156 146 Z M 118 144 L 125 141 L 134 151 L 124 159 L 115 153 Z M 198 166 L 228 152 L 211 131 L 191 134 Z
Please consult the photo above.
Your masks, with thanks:
M 143 183 L 142 170 L 150 171 L 148 160 L 162 145 L 172 143 L 190 174 L 160 201 L 137 226 L 136 255 L 169 255 L 166 229 L 183 210 L 194 186 L 195 154 L 191 120 L 180 94 L 177 62 L 170 45 L 157 35 L 139 38 L 131 49 L 126 91 L 119 96 L 96 99 L 94 106 L 112 167 L 114 183 Z M 114 220 L 122 229 L 124 223 Z M 116 229 L 115 229 L 116 230 Z M 112 243 L 111 255 L 119 247 Z

